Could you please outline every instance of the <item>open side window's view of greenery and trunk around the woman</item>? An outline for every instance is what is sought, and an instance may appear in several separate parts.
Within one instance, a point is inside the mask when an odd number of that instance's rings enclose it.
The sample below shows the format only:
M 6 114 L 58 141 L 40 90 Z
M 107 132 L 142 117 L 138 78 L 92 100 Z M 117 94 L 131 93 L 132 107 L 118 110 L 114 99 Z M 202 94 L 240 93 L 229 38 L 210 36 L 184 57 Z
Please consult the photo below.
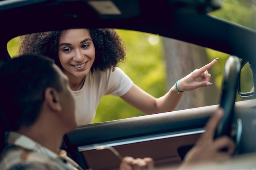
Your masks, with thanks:
M 175 110 L 218 104 L 222 69 L 229 54 L 160 35 L 122 29 L 116 31 L 124 42 L 127 57 L 119 68 L 137 86 L 157 98 L 163 96 L 178 79 L 219 58 L 216 65 L 209 69 L 210 82 L 214 85 L 185 92 Z M 7 44 L 11 57 L 17 56 L 18 40 L 19 37 L 13 38 Z M 198 78 L 198 81 L 201 79 Z M 120 97 L 107 95 L 101 99 L 92 123 L 142 115 L 145 113 L 128 105 Z

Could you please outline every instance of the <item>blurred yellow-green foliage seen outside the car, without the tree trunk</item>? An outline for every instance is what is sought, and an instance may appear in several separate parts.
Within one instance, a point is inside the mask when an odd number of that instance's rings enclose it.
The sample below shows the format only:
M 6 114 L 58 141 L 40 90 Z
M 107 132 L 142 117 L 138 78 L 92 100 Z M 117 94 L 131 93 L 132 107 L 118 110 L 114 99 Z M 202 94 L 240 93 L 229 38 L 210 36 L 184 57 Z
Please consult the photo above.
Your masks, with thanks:
M 223 0 L 223 7 L 209 15 L 229 20 L 236 24 L 256 29 L 256 8 L 254 0 Z M 166 87 L 165 61 L 163 56 L 162 39 L 158 35 L 137 31 L 117 30 L 124 40 L 127 60 L 119 67 L 132 81 L 154 97 L 164 95 L 170 87 Z M 7 45 L 11 57 L 16 56 L 17 38 Z M 219 58 L 212 71 L 215 75 L 215 85 L 220 90 L 222 70 L 229 54 L 206 49 L 209 61 Z M 239 56 L 238 56 L 239 57 Z M 245 79 L 242 79 L 246 81 Z M 241 100 L 237 97 L 237 101 Z M 139 110 L 126 104 L 120 97 L 104 96 L 97 108 L 97 114 L 92 123 L 124 119 L 145 115 Z

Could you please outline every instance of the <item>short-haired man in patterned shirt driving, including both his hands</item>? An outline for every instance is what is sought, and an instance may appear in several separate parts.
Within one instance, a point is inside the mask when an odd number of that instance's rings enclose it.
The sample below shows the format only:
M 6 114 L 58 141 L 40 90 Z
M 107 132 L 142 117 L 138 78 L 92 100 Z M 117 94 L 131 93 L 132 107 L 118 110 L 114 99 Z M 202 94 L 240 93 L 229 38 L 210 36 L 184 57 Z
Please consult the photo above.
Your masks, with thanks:
M 7 146 L 1 170 L 82 170 L 60 150 L 63 135 L 76 128 L 74 98 L 67 76 L 48 57 L 23 55 L 0 67 L 0 108 L 7 120 Z M 213 140 L 222 109 L 207 123 L 206 132 L 185 157 L 191 164 L 227 158 L 235 144 L 228 137 Z M 221 152 L 221 148 L 227 148 Z M 153 159 L 124 157 L 120 170 L 153 169 Z

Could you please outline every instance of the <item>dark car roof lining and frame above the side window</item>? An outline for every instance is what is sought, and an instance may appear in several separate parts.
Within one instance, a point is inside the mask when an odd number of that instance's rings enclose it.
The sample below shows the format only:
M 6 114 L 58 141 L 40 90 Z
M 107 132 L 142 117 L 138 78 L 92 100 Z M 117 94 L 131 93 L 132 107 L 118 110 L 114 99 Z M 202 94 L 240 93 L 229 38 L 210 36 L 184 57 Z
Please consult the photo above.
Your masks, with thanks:
M 88 1 L 49 0 L 0 11 L 0 15 L 8 16 L 2 18 L 2 23 L 8 25 L 1 28 L 2 32 L 7 33 L 2 34 L 0 50 L 7 51 L 4 46 L 9 40 L 27 33 L 97 27 L 153 33 L 255 62 L 252 56 L 256 56 L 256 31 L 198 11 L 202 6 L 198 1 L 166 0 L 150 3 L 146 0 L 132 0 L 119 3 L 115 0 L 113 2 L 120 9 L 130 2 L 137 10 L 130 14 L 134 15 L 132 17 L 117 18 L 109 15 L 107 19 L 99 16 L 86 2 Z M 9 22 L 10 20 L 14 22 Z M 243 48 L 238 48 L 239 46 Z M 4 61 L 10 58 L 9 55 L 1 57 Z

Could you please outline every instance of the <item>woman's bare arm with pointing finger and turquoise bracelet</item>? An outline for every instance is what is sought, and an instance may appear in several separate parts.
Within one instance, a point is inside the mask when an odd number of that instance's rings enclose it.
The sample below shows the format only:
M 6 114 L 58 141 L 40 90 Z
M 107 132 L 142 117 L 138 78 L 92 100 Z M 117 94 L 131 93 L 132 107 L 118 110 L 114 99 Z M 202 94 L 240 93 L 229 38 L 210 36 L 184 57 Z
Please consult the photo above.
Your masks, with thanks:
M 173 111 L 182 98 L 183 92 L 181 91 L 192 91 L 199 87 L 212 85 L 212 83 L 209 82 L 211 75 L 207 70 L 211 68 L 211 66 L 213 66 L 217 60 L 218 59 L 213 60 L 209 64 L 200 69 L 194 70 L 186 77 L 180 79 L 179 82 L 175 83 L 176 86 L 173 85 L 171 89 L 162 97 L 155 98 L 143 91 L 137 85 L 133 84 L 132 88 L 130 88 L 126 94 L 121 96 L 121 98 L 131 106 L 146 114 Z M 199 77 L 202 77 L 201 82 L 197 81 Z

